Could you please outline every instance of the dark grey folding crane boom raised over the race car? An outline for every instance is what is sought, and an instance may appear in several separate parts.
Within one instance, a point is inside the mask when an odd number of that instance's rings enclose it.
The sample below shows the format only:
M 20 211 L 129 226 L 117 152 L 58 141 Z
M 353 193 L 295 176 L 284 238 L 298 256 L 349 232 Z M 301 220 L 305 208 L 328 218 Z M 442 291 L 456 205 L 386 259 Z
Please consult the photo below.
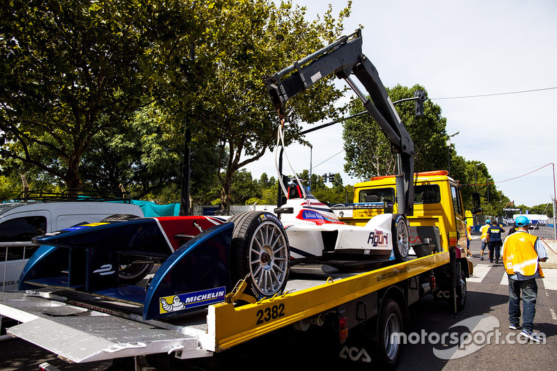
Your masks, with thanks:
M 364 108 L 375 119 L 382 132 L 391 141 L 391 147 L 398 157 L 397 202 L 400 212 L 413 214 L 414 187 L 414 142 L 386 93 L 377 70 L 362 54 L 361 30 L 343 36 L 317 52 L 302 58 L 267 79 L 267 92 L 278 109 L 279 116 L 284 116 L 285 104 L 302 91 L 311 88 L 320 79 L 334 72 L 362 100 Z M 370 99 L 350 79 L 354 74 L 366 88 Z M 285 77 L 287 76 L 288 77 Z M 285 77 L 285 78 L 284 78 Z M 284 79 L 283 79 L 284 78 Z

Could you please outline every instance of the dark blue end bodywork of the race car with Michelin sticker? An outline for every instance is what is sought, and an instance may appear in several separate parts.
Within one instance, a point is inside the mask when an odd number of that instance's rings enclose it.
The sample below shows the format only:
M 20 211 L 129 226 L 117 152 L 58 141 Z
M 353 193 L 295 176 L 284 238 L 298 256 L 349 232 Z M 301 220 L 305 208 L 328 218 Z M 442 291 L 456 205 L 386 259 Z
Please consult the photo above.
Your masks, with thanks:
M 95 228 L 79 226 L 37 237 L 33 241 L 42 246 L 25 266 L 19 290 L 62 287 L 139 303 L 146 320 L 207 308 L 224 301 L 232 290 L 229 264 L 234 224 L 210 224 L 203 230 L 197 228 L 200 218 L 97 223 Z M 171 228 L 174 224 L 185 232 L 176 233 L 177 227 Z M 175 249 L 170 241 L 174 237 L 190 239 Z M 162 261 L 147 289 L 120 282 L 120 255 Z

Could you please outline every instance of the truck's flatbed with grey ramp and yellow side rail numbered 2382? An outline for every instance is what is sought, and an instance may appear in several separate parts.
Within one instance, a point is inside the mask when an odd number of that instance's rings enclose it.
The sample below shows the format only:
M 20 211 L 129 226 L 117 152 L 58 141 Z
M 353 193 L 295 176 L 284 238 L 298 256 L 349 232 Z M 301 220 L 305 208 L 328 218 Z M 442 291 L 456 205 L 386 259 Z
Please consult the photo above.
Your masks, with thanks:
M 205 311 L 145 321 L 133 303 L 70 290 L 0 292 L 0 315 L 21 324 L 7 333 L 72 363 L 175 352 L 200 358 L 271 333 L 430 271 L 448 251 L 363 272 L 297 278 L 285 294 L 256 303 L 218 303 Z

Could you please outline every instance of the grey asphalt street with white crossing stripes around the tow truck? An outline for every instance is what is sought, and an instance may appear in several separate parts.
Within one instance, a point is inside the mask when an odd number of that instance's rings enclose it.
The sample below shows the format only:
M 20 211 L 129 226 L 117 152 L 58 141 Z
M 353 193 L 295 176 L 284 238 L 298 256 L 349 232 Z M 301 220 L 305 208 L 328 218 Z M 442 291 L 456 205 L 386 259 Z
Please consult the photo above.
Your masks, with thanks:
M 398 370 L 553 370 L 557 361 L 557 269 L 546 269 L 547 278 L 538 280 L 535 331 L 543 333 L 546 342 L 524 344 L 517 337 L 519 331 L 508 329 L 508 285 L 503 266 L 478 259 L 480 240 L 476 236 L 471 242 L 471 251 L 475 256 L 471 259 L 475 274 L 467 282 L 466 307 L 455 317 L 446 303 L 434 301 L 431 296 L 411 306 L 411 319 L 405 332 L 414 334 L 414 338 L 409 337 L 409 343 L 403 345 Z M 458 347 L 458 342 L 451 341 L 450 336 L 460 338 L 467 333 L 470 338 L 464 340 L 468 343 L 466 347 Z M 275 347 L 283 345 L 279 341 Z M 261 362 L 268 364 L 272 359 L 267 352 L 269 347 L 258 349 L 261 359 L 253 358 L 251 354 L 241 366 L 240 363 L 228 363 L 228 366 L 236 364 L 244 370 L 259 370 Z M 0 342 L 0 349 L 0 370 L 3 371 L 38 370 L 38 365 L 45 361 L 65 371 L 105 370 L 111 365 L 110 361 L 81 365 L 66 363 L 19 339 Z M 315 345 L 301 345 L 294 351 L 287 350 L 287 347 L 283 349 L 283 357 L 302 357 L 310 365 L 322 358 Z

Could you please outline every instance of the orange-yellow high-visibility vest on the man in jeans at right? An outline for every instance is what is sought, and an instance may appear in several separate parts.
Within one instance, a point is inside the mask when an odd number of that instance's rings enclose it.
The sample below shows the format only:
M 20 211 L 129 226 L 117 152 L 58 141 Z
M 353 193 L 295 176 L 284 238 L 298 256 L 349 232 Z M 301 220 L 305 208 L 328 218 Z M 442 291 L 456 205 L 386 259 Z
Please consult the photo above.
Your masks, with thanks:
M 538 237 L 528 232 L 515 232 L 505 239 L 503 265 L 508 274 L 519 273 L 528 277 L 538 272 L 540 276 L 544 276 L 542 267 L 538 264 L 538 253 L 534 248 L 537 239 Z

